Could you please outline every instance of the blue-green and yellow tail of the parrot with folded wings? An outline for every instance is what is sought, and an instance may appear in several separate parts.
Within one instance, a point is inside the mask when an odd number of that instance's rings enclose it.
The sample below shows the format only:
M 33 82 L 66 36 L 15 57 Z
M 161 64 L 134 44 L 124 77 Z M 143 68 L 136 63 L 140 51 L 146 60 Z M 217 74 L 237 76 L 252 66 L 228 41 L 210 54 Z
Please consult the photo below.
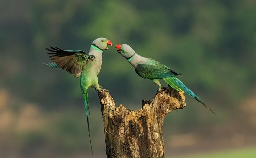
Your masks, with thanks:
M 187 93 L 190 97 L 194 98 L 195 100 L 197 100 L 198 102 L 202 103 L 206 109 L 208 109 L 210 112 L 212 112 L 213 114 L 219 116 L 218 114 L 216 114 L 213 110 L 211 110 L 209 107 L 207 107 L 204 102 L 197 97 L 187 86 L 185 86 L 178 78 L 172 76 L 172 77 L 167 77 L 167 78 L 163 78 L 164 81 L 166 83 L 168 83 L 173 89 L 179 91 L 179 92 L 185 92 Z

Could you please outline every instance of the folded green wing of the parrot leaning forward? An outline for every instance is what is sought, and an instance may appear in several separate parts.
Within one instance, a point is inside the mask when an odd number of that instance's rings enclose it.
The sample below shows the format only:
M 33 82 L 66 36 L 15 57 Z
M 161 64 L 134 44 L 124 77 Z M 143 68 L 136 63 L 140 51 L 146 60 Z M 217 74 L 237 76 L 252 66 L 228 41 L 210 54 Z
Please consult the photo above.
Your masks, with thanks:
M 182 75 L 179 72 L 173 71 L 169 67 L 154 59 L 148 59 L 146 63 L 139 64 L 135 71 L 138 75 L 145 79 L 161 79 L 171 76 Z

